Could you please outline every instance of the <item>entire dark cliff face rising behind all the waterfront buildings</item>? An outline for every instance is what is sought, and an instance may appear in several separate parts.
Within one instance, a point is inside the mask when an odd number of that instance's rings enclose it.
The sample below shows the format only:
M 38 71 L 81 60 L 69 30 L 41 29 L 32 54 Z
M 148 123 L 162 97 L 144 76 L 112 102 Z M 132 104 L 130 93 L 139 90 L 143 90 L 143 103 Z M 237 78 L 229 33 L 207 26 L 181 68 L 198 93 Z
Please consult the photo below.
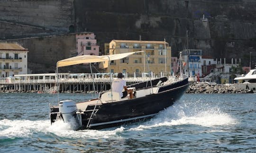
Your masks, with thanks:
M 142 40 L 165 38 L 172 55 L 177 56 L 188 30 L 190 49 L 202 49 L 203 55 L 213 58 L 241 58 L 242 66 L 249 65 L 252 52 L 252 64 L 256 63 L 255 0 L 6 0 L 0 1 L 0 12 L 2 40 L 74 29 L 94 32 L 103 46 L 112 39 L 138 40 L 141 35 Z M 53 41 L 63 39 L 56 36 Z M 75 40 L 71 42 L 75 46 Z M 40 43 L 33 42 L 38 46 L 33 48 L 23 42 L 32 63 L 41 53 L 47 54 Z M 52 47 L 53 57 L 54 52 L 66 50 L 64 47 L 68 46 Z

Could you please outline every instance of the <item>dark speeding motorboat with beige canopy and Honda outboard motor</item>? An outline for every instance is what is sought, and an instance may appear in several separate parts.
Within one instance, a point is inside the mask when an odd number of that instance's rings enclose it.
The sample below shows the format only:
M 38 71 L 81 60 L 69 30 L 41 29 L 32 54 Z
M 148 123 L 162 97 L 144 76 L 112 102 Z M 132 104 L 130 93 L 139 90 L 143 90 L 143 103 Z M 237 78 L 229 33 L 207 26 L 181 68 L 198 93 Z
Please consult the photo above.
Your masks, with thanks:
M 73 57 L 58 61 L 57 68 L 81 63 L 118 60 L 136 52 Z M 129 85 L 128 89 L 132 89 L 134 94 L 132 99 L 129 96 L 120 98 L 119 93 L 110 89 L 99 93 L 98 98 L 85 102 L 64 100 L 58 102 L 57 106 L 50 106 L 50 120 L 51 123 L 63 120 L 66 123 L 75 124 L 76 130 L 124 125 L 128 122 L 152 118 L 159 111 L 172 106 L 182 97 L 188 86 L 188 76 L 180 75 L 175 82 L 170 81 L 168 77 L 161 77 Z M 59 93 L 57 95 L 59 96 Z

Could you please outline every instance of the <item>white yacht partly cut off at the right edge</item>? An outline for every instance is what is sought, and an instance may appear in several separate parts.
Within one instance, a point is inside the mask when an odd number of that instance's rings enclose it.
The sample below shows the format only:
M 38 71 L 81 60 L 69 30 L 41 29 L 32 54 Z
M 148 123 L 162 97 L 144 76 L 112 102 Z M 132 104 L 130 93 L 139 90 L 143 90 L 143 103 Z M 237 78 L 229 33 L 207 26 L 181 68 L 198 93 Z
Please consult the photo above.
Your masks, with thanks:
M 233 86 L 256 93 L 256 69 L 251 69 L 247 75 L 236 77 L 234 80 L 239 83 L 233 84 Z

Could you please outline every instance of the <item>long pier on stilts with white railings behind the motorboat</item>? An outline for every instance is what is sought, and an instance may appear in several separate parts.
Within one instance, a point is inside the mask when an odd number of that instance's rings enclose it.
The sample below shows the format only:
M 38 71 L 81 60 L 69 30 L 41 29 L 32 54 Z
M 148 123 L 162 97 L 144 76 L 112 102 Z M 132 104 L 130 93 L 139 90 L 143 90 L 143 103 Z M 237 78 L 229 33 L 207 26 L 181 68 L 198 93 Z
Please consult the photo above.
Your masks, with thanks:
M 0 79 L 1 90 L 11 90 L 15 92 L 42 92 L 55 93 L 58 91 L 64 93 L 79 93 L 89 91 L 107 91 L 110 89 L 110 77 L 113 76 L 104 73 L 82 73 L 70 74 L 60 73 L 56 79 L 55 73 L 49 74 L 26 74 L 15 75 Z M 147 81 L 149 77 L 125 77 L 127 85 Z M 58 85 L 57 85 L 58 84 Z

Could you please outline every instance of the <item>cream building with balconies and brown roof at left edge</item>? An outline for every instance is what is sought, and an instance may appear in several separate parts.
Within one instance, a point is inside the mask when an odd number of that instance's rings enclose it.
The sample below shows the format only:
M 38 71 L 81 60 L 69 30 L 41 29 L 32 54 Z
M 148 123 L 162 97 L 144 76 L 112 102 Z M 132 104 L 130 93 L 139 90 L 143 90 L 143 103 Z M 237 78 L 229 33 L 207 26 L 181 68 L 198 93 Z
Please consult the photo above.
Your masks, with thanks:
M 0 77 L 27 74 L 27 52 L 18 43 L 0 42 Z

